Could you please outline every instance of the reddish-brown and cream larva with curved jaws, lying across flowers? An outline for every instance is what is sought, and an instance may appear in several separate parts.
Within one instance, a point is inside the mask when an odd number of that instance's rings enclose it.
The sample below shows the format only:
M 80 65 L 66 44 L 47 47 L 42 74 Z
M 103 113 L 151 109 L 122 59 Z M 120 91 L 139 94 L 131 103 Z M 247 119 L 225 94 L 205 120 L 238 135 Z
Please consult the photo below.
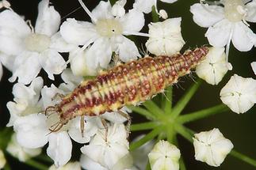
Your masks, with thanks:
M 200 47 L 183 55 L 145 57 L 115 66 L 94 80 L 82 81 L 59 104 L 46 108 L 46 114 L 55 111 L 59 115 L 59 123 L 52 131 L 60 130 L 78 115 L 101 115 L 148 100 L 176 83 L 178 77 L 189 74 L 207 54 L 208 47 Z

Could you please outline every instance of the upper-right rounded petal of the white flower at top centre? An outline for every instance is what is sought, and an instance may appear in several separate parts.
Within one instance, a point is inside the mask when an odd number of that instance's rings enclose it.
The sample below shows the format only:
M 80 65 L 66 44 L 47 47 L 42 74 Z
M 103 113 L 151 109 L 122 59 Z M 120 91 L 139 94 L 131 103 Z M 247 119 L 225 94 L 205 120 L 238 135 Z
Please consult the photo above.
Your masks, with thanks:
M 139 32 L 145 24 L 144 15 L 136 9 L 130 9 L 124 17 L 120 17 L 120 22 L 123 26 L 124 32 Z

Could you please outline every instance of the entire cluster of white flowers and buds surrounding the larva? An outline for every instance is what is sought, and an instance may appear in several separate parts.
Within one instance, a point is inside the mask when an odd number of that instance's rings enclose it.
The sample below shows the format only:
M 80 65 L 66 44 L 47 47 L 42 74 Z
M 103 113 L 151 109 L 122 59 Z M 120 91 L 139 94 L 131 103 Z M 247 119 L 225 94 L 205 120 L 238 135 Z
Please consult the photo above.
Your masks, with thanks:
M 59 104 L 63 96 L 71 94 L 87 77 L 144 57 L 130 36 L 146 36 L 145 46 L 152 55 L 176 55 L 185 44 L 181 36 L 181 17 L 168 18 L 164 9 L 157 8 L 157 0 L 135 0 L 128 10 L 124 9 L 126 0 L 118 0 L 113 5 L 100 1 L 92 11 L 82 0 L 78 2 L 90 21 L 67 18 L 61 23 L 60 14 L 49 0 L 41 0 L 35 25 L 15 13 L 6 0 L 0 2 L 0 9 L 4 8 L 0 12 L 0 80 L 2 66 L 5 66 L 12 73 L 9 81 L 15 82 L 13 101 L 6 105 L 10 111 L 6 126 L 14 130 L 6 151 L 25 162 L 47 147 L 46 153 L 54 161 L 49 169 L 145 168 L 145 159 L 138 162 L 136 155 L 147 155 L 153 170 L 179 169 L 181 153 L 170 141 L 160 140 L 154 147 L 151 141 L 138 149 L 141 152 L 130 152 L 129 122 L 125 127 L 130 110 L 126 107 L 120 109 L 122 114 L 120 111 L 107 111 L 97 116 L 81 114 L 81 118 L 68 119 L 63 127 L 56 129 L 60 115 L 51 107 Z M 147 33 L 141 32 L 144 16 L 154 13 L 153 7 L 155 14 L 164 21 L 151 23 Z M 198 77 L 218 85 L 227 71 L 232 70 L 227 61 L 230 43 L 239 51 L 249 51 L 256 46 L 256 35 L 247 23 L 256 22 L 255 7 L 255 0 L 223 0 L 210 6 L 202 1 L 191 6 L 193 20 L 208 28 L 205 36 L 213 46 L 197 66 Z M 227 46 L 226 52 L 224 46 Z M 251 66 L 255 71 L 255 62 Z M 40 77 L 41 71 L 52 81 L 59 75 L 62 83 L 46 85 Z M 253 78 L 235 74 L 220 91 L 220 99 L 232 111 L 243 113 L 256 103 L 255 92 Z M 71 162 L 72 140 L 82 144 L 79 162 Z M 211 166 L 220 166 L 233 148 L 218 129 L 194 134 L 193 145 L 196 160 Z M 1 149 L 0 158 L 2 168 L 6 160 Z

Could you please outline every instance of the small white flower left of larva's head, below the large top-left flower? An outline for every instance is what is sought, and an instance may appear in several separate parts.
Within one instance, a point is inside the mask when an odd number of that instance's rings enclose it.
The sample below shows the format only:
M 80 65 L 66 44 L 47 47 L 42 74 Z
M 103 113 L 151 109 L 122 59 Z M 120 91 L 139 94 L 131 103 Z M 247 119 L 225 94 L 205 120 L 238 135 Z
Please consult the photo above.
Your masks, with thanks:
M 6 106 L 10 111 L 10 120 L 7 127 L 12 127 L 19 117 L 38 113 L 41 110 L 39 100 L 40 91 L 43 87 L 42 77 L 36 77 L 29 86 L 21 83 L 13 85 L 13 101 L 9 101 Z

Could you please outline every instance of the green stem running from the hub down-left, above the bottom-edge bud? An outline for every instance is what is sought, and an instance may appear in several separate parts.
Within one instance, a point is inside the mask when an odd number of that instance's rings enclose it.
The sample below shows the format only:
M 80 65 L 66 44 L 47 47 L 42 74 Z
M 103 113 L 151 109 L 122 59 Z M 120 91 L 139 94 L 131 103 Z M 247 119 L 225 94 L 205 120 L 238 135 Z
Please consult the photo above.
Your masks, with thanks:
M 143 138 L 139 139 L 139 141 L 132 142 L 130 145 L 130 151 L 133 151 L 133 150 L 139 148 L 139 146 L 141 146 L 141 145 L 145 144 L 146 142 L 150 141 L 151 139 L 155 138 L 161 130 L 162 130 L 162 128 L 157 127 L 154 130 L 151 130 L 151 132 L 146 134 Z

